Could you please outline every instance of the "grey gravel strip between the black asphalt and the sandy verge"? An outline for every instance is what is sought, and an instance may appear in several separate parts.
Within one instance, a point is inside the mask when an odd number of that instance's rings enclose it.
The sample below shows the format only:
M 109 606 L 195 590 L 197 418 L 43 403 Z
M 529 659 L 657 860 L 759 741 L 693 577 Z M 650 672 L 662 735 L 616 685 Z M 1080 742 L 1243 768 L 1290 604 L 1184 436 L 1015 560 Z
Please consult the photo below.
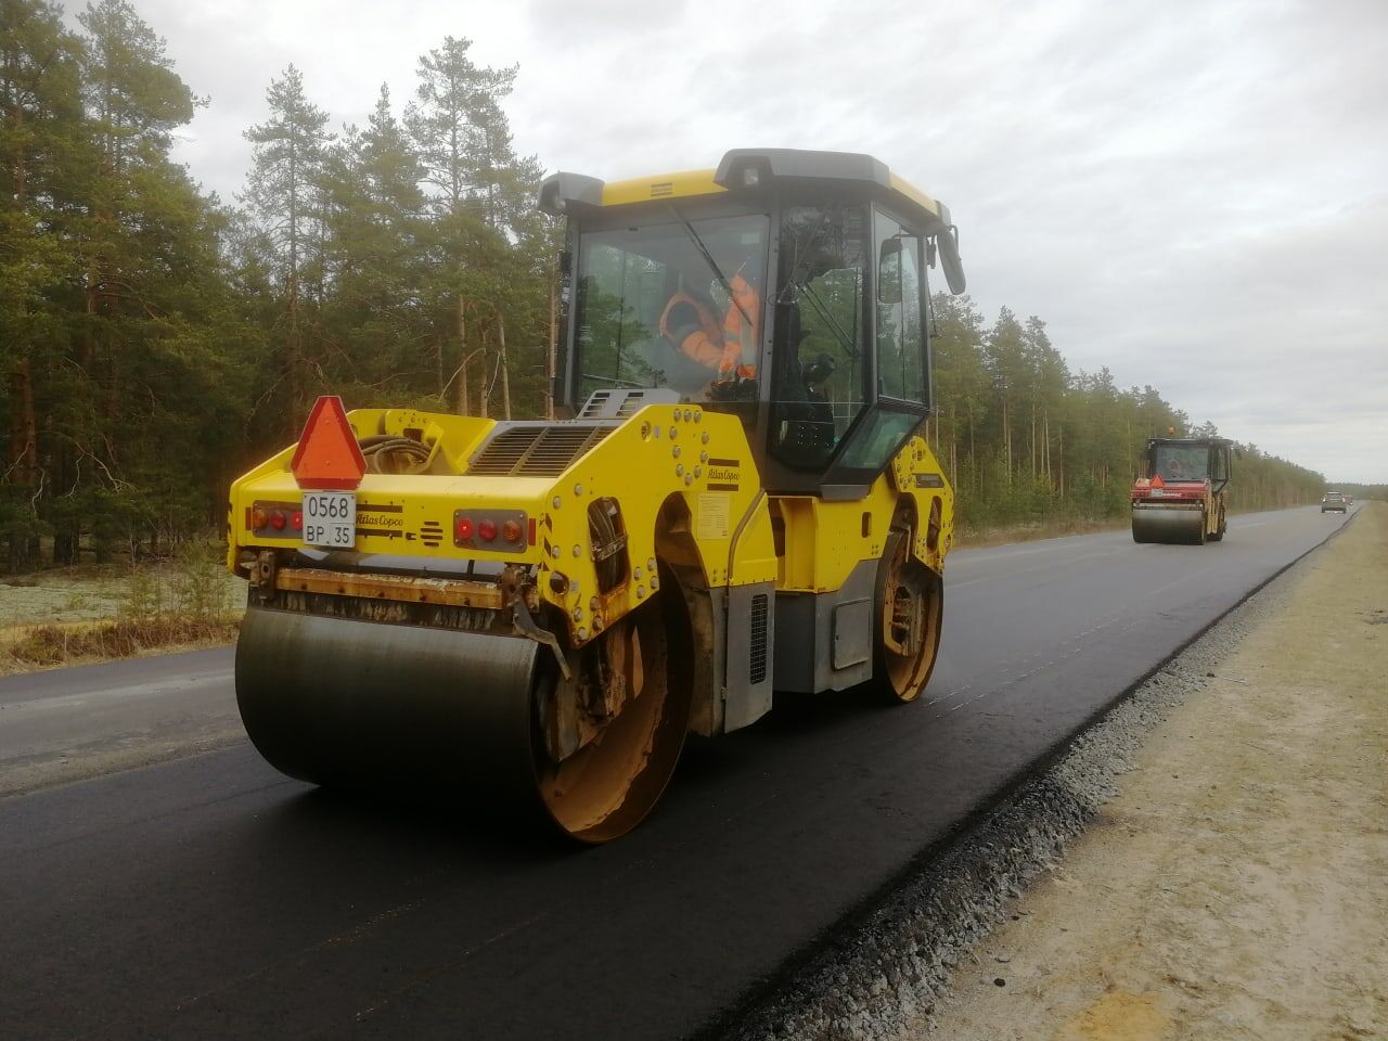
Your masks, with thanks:
M 923 848 L 693 1037 L 858 1041 L 929 1026 L 954 967 L 1085 830 L 1151 729 L 1203 686 L 1244 633 L 1278 609 L 1280 594 L 1295 579 L 1289 572 L 1359 512 L 1097 708 L 955 831 Z

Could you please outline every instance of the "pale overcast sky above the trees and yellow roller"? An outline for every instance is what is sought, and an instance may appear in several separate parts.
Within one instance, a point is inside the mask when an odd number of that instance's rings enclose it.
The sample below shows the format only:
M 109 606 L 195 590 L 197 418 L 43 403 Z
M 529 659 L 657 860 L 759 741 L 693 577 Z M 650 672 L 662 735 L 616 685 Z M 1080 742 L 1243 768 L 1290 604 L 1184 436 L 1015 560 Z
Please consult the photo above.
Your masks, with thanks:
M 516 147 L 548 169 L 872 153 L 948 203 L 990 321 L 1038 315 L 1072 369 L 1388 482 L 1388 0 L 133 3 L 210 99 L 176 155 L 223 198 L 286 65 L 365 124 L 465 36 L 519 64 Z

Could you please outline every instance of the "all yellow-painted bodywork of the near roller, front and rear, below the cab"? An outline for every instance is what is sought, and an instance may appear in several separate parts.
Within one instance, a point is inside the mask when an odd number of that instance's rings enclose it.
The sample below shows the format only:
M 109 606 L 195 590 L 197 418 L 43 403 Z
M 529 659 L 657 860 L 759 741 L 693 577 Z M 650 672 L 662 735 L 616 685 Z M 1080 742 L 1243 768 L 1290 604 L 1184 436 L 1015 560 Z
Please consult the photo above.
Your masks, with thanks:
M 815 496 L 762 494 L 741 423 L 697 407 L 648 405 L 555 477 L 469 475 L 468 452 L 484 440 L 494 421 L 411 412 L 408 421 L 419 425 L 404 428 L 398 412 L 382 409 L 354 411 L 348 419 L 361 437 L 383 428 L 425 430 L 426 439 L 437 439 L 450 465 L 462 471 L 455 476 L 362 477 L 357 489 L 358 552 L 533 564 L 559 572 L 570 580 L 566 594 L 541 583 L 540 595 L 564 609 L 575 634 L 591 625 L 594 613 L 611 623 L 648 593 L 648 583 L 637 582 L 619 600 L 593 605 L 597 575 L 587 507 L 600 498 L 619 502 L 630 559 L 647 561 L 640 568 L 645 575 L 658 555 L 661 508 L 670 497 L 679 498 L 708 587 L 775 582 L 777 590 L 787 591 L 838 590 L 854 568 L 881 557 L 905 500 L 913 502 L 911 514 L 917 520 L 911 547 L 916 559 L 941 572 L 954 539 L 954 491 L 920 437 L 906 443 L 866 498 L 833 502 Z M 247 550 L 303 547 L 303 539 L 291 532 L 250 530 L 257 507 L 296 508 L 301 502 L 303 490 L 289 469 L 293 451 L 293 446 L 285 448 L 232 484 L 228 565 L 233 573 L 246 573 Z M 459 508 L 519 511 L 534 518 L 534 544 L 514 550 L 455 545 L 454 511 Z

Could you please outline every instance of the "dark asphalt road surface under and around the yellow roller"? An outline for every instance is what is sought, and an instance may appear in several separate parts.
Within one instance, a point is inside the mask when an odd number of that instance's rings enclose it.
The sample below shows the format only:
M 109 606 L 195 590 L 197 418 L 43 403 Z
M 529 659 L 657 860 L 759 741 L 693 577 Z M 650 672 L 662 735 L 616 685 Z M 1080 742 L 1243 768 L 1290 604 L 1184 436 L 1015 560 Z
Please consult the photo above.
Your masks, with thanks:
M 1345 520 L 952 554 L 926 701 L 783 700 L 694 743 L 655 815 L 594 849 L 335 798 L 244 740 L 3 798 L 0 1037 L 716 1035 Z M 229 713 L 230 651 L 0 680 L 0 775 Z

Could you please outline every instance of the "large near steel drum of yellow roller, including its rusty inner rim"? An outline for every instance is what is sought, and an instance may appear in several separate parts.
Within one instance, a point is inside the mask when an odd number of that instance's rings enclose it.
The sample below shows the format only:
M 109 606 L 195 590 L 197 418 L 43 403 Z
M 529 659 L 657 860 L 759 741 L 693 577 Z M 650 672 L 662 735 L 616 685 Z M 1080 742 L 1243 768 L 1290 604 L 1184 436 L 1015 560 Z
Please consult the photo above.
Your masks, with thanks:
M 253 605 L 236 700 L 255 748 L 291 777 L 423 787 L 464 809 L 541 812 L 575 838 L 605 841 L 655 805 L 684 741 L 688 684 L 670 680 L 663 626 L 658 602 L 626 626 L 647 634 L 640 688 L 564 761 L 544 734 L 561 673 L 550 648 L 516 634 Z

